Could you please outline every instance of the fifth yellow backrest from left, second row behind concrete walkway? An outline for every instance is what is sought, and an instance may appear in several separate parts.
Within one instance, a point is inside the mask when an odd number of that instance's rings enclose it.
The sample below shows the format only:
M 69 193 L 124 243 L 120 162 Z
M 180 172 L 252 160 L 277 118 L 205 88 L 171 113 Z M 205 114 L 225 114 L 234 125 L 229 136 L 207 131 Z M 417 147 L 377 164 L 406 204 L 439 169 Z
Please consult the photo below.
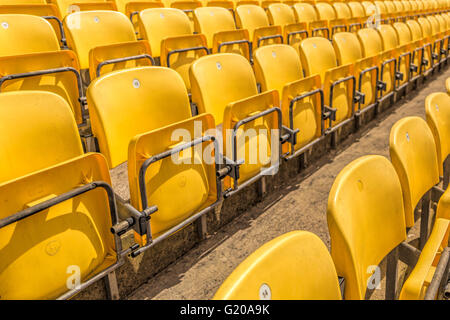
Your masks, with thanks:
M 236 8 L 236 24 L 241 29 L 247 29 L 250 38 L 253 38 L 255 29 L 269 26 L 269 18 L 260 6 L 245 4 Z

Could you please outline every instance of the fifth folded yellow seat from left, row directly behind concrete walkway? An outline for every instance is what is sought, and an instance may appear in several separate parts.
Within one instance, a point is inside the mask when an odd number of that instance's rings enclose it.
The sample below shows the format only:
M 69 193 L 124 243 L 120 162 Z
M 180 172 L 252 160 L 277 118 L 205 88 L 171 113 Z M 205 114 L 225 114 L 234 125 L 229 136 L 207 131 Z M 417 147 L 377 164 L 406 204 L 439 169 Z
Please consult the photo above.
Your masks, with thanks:
M 332 146 L 336 144 L 336 130 L 351 121 L 354 104 L 360 95 L 356 93 L 353 65 L 337 65 L 333 45 L 323 37 L 308 38 L 300 42 L 300 59 L 305 76 L 320 75 L 325 104 L 331 112 L 326 126 L 332 132 Z

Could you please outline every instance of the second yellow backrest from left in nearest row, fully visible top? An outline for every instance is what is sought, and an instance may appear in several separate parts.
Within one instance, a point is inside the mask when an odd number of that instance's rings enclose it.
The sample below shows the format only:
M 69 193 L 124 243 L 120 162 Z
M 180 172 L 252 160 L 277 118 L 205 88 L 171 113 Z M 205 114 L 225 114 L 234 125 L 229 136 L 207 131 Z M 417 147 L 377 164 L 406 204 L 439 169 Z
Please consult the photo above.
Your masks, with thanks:
M 345 299 L 364 299 L 375 267 L 406 239 L 402 188 L 388 159 L 364 156 L 339 172 L 328 196 L 327 222 Z

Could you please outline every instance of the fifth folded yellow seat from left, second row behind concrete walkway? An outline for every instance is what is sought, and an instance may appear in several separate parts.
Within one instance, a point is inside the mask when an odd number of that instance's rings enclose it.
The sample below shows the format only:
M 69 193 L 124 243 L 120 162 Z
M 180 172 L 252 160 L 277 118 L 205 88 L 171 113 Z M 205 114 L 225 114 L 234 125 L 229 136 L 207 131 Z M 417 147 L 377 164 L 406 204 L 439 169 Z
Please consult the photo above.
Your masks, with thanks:
M 274 43 L 283 43 L 281 26 L 271 26 L 264 9 L 253 4 L 236 8 L 236 25 L 250 34 L 252 48 Z

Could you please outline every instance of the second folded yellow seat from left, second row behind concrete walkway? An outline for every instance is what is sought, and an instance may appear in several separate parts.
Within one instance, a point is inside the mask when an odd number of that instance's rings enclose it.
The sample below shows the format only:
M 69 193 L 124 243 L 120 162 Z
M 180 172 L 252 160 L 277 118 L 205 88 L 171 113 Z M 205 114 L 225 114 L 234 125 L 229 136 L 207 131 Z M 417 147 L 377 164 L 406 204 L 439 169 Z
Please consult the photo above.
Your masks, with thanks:
M 133 25 L 123 13 L 79 11 L 64 19 L 67 44 L 78 56 L 83 82 L 117 69 L 154 64 L 150 45 L 137 41 Z

